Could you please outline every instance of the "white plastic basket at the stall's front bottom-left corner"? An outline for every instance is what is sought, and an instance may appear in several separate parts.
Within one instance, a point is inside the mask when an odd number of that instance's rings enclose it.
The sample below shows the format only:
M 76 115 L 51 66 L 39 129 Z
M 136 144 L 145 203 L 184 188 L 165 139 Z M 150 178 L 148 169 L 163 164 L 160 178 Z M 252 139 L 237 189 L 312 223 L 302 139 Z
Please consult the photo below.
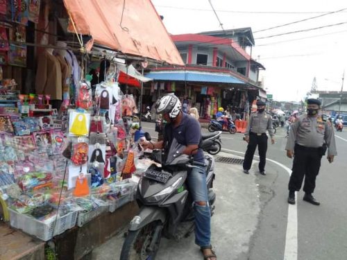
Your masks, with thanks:
M 62 234 L 67 229 L 76 225 L 77 211 L 70 212 L 65 216 L 53 216 L 47 220 L 37 220 L 31 216 L 20 214 L 17 211 L 8 209 L 10 211 L 10 225 L 17 229 L 22 229 L 26 234 L 36 236 L 43 241 L 49 241 L 58 234 Z M 54 223 L 56 222 L 56 227 Z

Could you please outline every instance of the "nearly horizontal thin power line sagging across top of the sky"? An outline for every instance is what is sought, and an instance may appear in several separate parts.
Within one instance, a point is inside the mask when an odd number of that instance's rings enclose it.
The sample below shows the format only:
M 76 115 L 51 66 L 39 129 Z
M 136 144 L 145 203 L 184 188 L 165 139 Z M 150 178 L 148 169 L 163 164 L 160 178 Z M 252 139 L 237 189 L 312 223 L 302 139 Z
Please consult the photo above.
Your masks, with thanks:
M 192 10 L 192 11 L 203 11 L 203 12 L 212 12 L 210 9 L 203 8 L 187 8 L 187 7 L 179 7 L 179 6 L 159 6 L 155 5 L 155 7 L 160 8 L 170 8 L 170 9 L 178 9 L 178 10 Z M 235 10 L 216 10 L 218 12 L 232 12 L 232 13 L 241 13 L 241 14 L 260 14 L 260 15 L 269 15 L 269 14 L 282 14 L 282 15 L 305 15 L 305 14 L 325 14 L 331 11 L 316 11 L 316 12 L 282 12 L 282 11 L 235 11 Z

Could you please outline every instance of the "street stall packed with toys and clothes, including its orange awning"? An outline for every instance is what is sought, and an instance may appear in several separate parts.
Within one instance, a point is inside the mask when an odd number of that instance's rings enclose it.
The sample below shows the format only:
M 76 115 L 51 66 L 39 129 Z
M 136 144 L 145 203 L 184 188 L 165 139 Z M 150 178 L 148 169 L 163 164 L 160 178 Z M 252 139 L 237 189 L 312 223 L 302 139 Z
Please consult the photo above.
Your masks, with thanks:
M 12 8 L 12 1 L 4 2 Z M 0 3 L 1 15 L 8 19 L 8 24 L 0 24 L 0 55 L 12 55 L 11 41 L 20 42 L 12 50 L 22 50 L 0 64 L 0 216 L 42 241 L 134 200 L 139 177 L 151 161 L 139 160 L 144 132 L 139 129 L 137 102 L 121 92 L 119 81 L 128 84 L 130 78 L 141 85 L 150 80 L 131 66 L 135 60 L 183 64 L 149 1 L 127 1 L 125 8 L 123 1 L 64 3 L 35 1 L 36 6 L 28 6 L 28 19 L 26 10 L 8 14 Z M 52 17 L 53 10 L 61 17 Z M 80 16 L 83 10 L 93 12 L 92 21 Z M 147 22 L 135 23 L 132 14 L 145 15 Z M 115 19 L 123 19 L 124 27 L 119 29 Z M 64 35 L 66 28 L 58 28 L 58 21 L 60 27 L 69 21 L 73 34 Z M 37 32 L 36 37 L 26 41 L 26 28 Z M 17 39 L 9 37 L 13 33 Z M 130 39 L 146 47 L 134 49 Z M 98 49 L 93 44 L 99 44 Z M 28 60 L 24 49 L 31 56 Z M 87 67 L 94 60 L 108 60 L 108 67 L 92 87 Z M 18 76 L 22 73 L 14 72 L 18 66 L 33 85 L 25 85 Z

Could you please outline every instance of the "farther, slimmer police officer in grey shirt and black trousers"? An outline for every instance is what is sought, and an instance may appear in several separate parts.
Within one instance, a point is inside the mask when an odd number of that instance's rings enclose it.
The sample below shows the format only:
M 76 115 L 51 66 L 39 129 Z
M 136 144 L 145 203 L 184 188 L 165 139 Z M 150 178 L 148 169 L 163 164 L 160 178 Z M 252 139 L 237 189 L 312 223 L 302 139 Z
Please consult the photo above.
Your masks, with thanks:
M 271 114 L 265 112 L 265 103 L 257 101 L 257 112 L 251 113 L 249 117 L 247 129 L 245 132 L 244 140 L 248 143 L 246 154 L 244 155 L 244 173 L 248 174 L 251 168 L 255 148 L 258 146 L 260 157 L 259 172 L 261 175 L 265 173 L 266 150 L 267 150 L 267 135 L 266 130 L 269 131 L 271 143 L 274 144 L 273 128 Z

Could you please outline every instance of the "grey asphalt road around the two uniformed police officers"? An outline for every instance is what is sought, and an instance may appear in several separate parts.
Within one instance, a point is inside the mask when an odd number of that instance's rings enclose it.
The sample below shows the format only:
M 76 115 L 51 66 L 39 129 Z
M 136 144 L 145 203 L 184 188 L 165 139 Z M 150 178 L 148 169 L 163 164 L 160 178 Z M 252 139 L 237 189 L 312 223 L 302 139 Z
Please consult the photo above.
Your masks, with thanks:
M 157 136 L 153 130 L 154 123 L 143 123 L 143 128 L 153 137 Z M 283 168 L 291 168 L 292 160 L 285 156 L 285 130 L 278 129 L 276 144 L 269 144 L 267 153 L 267 158 L 275 162 L 267 162 L 267 175 L 257 179 L 261 202 L 257 229 L 248 243 L 248 252 L 239 255 L 237 259 L 347 259 L 347 130 L 335 134 L 338 156 L 332 164 L 325 157 L 322 159 L 316 181 L 314 196 L 321 205 L 316 207 L 304 202 L 303 191 L 298 192 L 296 220 L 294 217 L 288 218 L 289 173 Z M 223 149 L 242 155 L 246 150 L 242 137 L 242 134 L 230 135 L 224 132 Z M 255 164 L 251 169 L 253 174 L 257 174 Z M 292 232 L 293 227 L 297 232 Z M 289 236 L 290 241 L 287 234 L 294 234 Z M 287 254 L 286 250 L 294 254 Z

